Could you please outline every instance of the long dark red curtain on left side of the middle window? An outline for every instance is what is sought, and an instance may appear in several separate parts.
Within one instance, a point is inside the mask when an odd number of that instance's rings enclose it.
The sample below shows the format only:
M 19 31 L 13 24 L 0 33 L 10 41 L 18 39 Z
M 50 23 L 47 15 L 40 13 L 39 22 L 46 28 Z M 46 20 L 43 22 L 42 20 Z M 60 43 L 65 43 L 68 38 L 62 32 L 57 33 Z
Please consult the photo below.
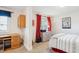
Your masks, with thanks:
M 37 26 L 36 26 L 36 42 L 41 42 L 41 35 L 40 35 L 40 27 L 41 27 L 41 15 L 37 16 Z

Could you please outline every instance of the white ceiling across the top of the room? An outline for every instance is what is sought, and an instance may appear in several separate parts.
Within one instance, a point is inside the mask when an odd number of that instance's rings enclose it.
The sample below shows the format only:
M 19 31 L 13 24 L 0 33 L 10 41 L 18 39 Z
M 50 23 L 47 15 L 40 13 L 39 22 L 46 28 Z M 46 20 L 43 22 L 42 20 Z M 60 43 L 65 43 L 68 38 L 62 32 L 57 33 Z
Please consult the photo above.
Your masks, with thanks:
M 16 10 L 24 10 L 27 6 L 7 6 Z M 33 11 L 40 12 L 46 15 L 61 15 L 79 11 L 79 6 L 33 6 Z

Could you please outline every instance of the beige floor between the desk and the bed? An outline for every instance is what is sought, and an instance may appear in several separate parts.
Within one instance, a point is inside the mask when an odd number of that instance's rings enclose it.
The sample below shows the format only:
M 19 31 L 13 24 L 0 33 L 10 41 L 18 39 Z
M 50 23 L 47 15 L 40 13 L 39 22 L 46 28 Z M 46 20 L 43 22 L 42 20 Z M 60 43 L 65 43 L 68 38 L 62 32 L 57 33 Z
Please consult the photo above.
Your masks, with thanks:
M 42 43 L 34 43 L 33 50 L 28 52 L 24 46 L 18 49 L 5 51 L 4 53 L 49 53 L 48 41 Z

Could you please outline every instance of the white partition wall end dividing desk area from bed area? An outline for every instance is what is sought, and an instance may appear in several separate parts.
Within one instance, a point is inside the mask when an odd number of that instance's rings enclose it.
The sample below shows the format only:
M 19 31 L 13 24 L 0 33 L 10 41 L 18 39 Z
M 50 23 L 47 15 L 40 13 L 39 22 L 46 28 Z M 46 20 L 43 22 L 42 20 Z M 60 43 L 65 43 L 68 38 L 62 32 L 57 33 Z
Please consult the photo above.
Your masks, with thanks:
M 26 8 L 26 28 L 24 29 L 24 46 L 28 51 L 32 50 L 32 37 L 33 37 L 33 28 L 32 28 L 32 8 Z

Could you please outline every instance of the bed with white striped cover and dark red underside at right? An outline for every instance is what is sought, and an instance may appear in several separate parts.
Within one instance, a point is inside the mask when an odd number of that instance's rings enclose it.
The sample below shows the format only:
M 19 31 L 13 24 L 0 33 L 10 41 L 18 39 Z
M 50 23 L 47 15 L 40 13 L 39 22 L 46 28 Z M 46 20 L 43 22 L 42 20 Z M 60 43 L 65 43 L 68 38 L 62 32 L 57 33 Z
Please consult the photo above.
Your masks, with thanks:
M 74 34 L 55 34 L 49 40 L 49 49 L 67 53 L 79 52 L 79 36 Z

